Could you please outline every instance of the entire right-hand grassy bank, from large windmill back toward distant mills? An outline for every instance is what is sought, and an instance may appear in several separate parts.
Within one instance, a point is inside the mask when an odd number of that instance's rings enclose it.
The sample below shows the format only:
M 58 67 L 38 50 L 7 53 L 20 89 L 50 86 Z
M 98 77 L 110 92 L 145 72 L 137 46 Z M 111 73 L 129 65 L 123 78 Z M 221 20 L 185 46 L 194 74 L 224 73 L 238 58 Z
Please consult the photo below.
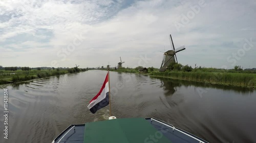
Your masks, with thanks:
M 137 69 L 110 69 L 110 71 L 139 73 Z M 180 79 L 187 81 L 197 81 L 211 84 L 235 85 L 239 87 L 256 88 L 256 74 L 252 71 L 234 71 L 220 70 L 214 68 L 193 69 L 190 72 L 184 71 L 165 71 L 159 72 L 154 69 L 152 72 L 142 73 L 156 77 L 167 77 L 172 79 Z

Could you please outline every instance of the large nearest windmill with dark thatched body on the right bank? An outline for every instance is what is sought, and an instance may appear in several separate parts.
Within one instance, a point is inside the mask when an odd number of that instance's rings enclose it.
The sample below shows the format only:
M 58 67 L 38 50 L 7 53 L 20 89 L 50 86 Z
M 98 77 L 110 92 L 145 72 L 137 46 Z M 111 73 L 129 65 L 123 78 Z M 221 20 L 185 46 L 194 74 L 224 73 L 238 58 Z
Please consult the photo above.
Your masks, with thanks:
M 164 52 L 160 71 L 165 71 L 167 69 L 167 67 L 170 65 L 170 63 L 172 63 L 172 62 L 178 63 L 176 53 L 186 49 L 185 46 L 183 45 L 175 50 L 172 35 L 170 35 L 169 40 L 170 40 L 170 45 L 173 47 L 173 50 L 168 50 L 168 51 Z M 175 56 L 175 58 L 174 58 L 174 56 Z

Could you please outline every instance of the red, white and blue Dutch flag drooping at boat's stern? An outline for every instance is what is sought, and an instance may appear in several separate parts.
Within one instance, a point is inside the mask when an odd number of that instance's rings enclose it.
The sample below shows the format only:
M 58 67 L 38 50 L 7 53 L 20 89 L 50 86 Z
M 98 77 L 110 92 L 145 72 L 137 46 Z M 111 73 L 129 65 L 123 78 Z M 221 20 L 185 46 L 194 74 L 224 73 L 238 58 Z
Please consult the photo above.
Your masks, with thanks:
M 99 91 L 99 93 L 90 101 L 87 106 L 92 113 L 109 105 L 109 73 L 106 74 L 105 81 Z

